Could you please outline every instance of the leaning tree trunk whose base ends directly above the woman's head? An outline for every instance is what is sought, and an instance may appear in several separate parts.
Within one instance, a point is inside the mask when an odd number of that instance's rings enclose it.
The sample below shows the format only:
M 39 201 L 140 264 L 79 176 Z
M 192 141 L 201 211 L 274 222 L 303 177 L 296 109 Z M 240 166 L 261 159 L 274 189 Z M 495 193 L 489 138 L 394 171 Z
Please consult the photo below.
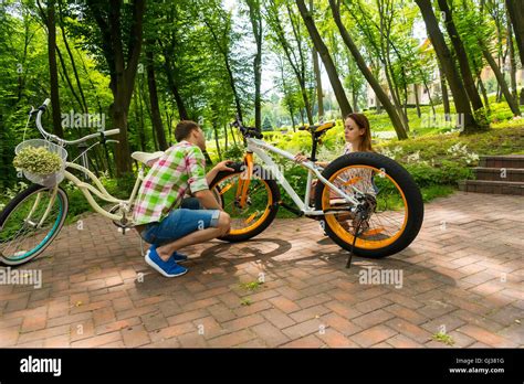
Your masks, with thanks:
M 313 20 L 311 12 L 307 11 L 304 0 L 296 0 L 296 4 L 298 6 L 298 11 L 301 12 L 302 19 L 304 20 L 307 31 L 310 32 L 313 44 L 321 55 L 322 62 L 324 63 L 324 67 L 326 68 L 327 75 L 329 77 L 329 82 L 338 102 L 342 115 L 346 116 L 353 113 L 353 108 L 347 100 L 344 87 L 342 86 L 340 79 L 338 77 L 338 72 L 336 71 L 335 64 L 333 63 L 333 58 L 329 55 L 327 46 L 322 40 L 318 30 L 316 29 L 315 21 Z

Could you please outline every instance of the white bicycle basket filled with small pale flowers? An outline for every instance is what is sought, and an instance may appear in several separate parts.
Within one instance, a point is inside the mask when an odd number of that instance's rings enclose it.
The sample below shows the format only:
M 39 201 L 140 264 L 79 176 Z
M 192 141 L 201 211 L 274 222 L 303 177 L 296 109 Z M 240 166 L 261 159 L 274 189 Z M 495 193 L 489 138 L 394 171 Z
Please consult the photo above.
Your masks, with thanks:
M 13 166 L 33 183 L 52 188 L 64 179 L 67 151 L 42 139 L 27 140 L 17 146 Z

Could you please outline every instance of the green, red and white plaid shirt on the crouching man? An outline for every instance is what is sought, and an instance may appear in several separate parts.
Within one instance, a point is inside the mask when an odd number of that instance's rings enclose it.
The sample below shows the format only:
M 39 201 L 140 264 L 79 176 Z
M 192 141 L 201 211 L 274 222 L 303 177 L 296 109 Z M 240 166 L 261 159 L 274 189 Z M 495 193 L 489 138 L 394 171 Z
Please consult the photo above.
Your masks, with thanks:
M 188 189 L 195 193 L 209 186 L 202 151 L 184 140 L 170 147 L 144 179 L 133 212 L 135 224 L 161 221 L 180 205 Z

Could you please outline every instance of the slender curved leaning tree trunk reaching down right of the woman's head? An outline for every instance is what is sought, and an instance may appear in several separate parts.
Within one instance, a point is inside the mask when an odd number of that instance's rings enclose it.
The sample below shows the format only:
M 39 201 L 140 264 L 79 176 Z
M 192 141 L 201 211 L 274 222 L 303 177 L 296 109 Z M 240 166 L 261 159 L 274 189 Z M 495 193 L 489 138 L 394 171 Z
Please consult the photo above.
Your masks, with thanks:
M 338 31 L 340 32 L 344 43 L 349 49 L 349 52 L 355 58 L 355 63 L 357 64 L 360 72 L 363 73 L 364 77 L 366 77 L 366 81 L 368 82 L 369 86 L 375 92 L 377 99 L 380 100 L 381 105 L 388 113 L 389 118 L 391 119 L 391 122 L 394 125 L 395 131 L 397 132 L 398 139 L 399 140 L 407 139 L 408 135 L 406 134 L 406 129 L 404 128 L 404 124 L 402 124 L 402 120 L 400 119 L 400 116 L 397 114 L 395 106 L 391 104 L 391 100 L 389 99 L 388 95 L 378 83 L 377 78 L 375 78 L 371 71 L 367 67 L 366 62 L 364 61 L 364 57 L 358 51 L 358 47 L 355 45 L 352 36 L 349 35 L 346 28 L 342 23 L 339 3 L 335 1 L 336 0 L 329 0 L 329 6 L 332 9 L 333 18 L 335 19 L 335 23 L 338 26 Z M 378 109 L 378 102 L 377 102 L 377 109 Z

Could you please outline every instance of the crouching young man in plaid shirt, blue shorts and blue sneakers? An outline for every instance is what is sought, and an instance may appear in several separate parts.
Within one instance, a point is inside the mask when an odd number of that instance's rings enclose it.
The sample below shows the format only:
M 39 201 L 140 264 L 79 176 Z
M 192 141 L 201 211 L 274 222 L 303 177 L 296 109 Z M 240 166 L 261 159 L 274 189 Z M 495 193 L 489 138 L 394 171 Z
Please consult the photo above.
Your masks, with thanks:
M 208 186 L 218 172 L 232 171 L 228 161 L 206 174 L 206 138 L 195 121 L 180 121 L 175 138 L 178 143 L 166 150 L 144 179 L 134 210 L 135 228 L 151 244 L 146 263 L 166 277 L 188 271 L 177 264 L 187 259 L 178 253 L 180 248 L 223 236 L 231 223 Z M 188 191 L 205 210 L 180 207 Z

